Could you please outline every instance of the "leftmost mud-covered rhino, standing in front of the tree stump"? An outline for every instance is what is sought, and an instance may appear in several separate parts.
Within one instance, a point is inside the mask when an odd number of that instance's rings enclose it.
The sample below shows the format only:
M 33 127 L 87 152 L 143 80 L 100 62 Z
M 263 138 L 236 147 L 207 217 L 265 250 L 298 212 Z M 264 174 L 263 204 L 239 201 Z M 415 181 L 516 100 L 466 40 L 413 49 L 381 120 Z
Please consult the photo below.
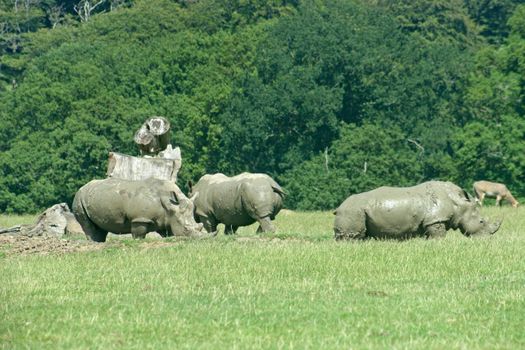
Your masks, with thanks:
M 163 237 L 200 236 L 194 200 L 171 181 L 108 178 L 82 186 L 73 200 L 73 213 L 88 239 L 96 242 L 105 242 L 108 232 L 131 233 L 133 238 L 153 231 Z

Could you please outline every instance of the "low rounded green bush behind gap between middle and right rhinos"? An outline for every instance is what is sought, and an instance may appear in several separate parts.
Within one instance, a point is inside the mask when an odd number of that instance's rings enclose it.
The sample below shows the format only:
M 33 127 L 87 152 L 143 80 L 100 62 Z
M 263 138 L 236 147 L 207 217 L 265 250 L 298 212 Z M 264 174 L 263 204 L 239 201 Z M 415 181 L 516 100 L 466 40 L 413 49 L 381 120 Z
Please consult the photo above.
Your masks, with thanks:
M 345 125 L 324 154 L 283 176 L 287 205 L 333 209 L 351 194 L 385 185 L 409 186 L 423 179 L 422 150 L 397 127 Z

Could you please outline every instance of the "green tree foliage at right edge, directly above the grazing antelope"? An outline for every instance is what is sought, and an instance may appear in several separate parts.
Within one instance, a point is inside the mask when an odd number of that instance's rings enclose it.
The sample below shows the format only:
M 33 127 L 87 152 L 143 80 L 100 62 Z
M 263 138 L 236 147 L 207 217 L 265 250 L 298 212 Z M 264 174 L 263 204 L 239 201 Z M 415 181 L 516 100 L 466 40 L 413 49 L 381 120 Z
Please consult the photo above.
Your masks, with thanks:
M 453 137 L 458 182 L 492 179 L 524 193 L 525 6 L 509 20 L 507 43 L 476 55 L 476 69 L 465 92 L 471 122 Z

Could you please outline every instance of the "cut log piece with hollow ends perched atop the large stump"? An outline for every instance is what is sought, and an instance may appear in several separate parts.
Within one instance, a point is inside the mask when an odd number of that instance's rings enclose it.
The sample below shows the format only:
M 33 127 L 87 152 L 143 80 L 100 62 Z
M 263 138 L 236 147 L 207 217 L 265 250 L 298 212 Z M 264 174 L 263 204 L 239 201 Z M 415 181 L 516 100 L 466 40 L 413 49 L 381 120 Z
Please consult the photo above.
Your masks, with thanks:
M 148 118 L 135 133 L 133 140 L 141 155 L 156 155 L 166 149 L 170 141 L 170 122 L 159 116 Z

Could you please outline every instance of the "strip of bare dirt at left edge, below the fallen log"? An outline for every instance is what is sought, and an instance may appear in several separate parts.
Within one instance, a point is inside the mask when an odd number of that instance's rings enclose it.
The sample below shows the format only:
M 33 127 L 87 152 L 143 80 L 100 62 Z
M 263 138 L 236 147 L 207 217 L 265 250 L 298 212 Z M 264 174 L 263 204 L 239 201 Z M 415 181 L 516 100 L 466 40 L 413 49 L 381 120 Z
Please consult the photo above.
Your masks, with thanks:
M 89 241 L 69 240 L 50 236 L 0 236 L 0 252 L 4 252 L 7 255 L 66 254 L 72 252 L 100 250 L 103 247 L 103 244 Z

